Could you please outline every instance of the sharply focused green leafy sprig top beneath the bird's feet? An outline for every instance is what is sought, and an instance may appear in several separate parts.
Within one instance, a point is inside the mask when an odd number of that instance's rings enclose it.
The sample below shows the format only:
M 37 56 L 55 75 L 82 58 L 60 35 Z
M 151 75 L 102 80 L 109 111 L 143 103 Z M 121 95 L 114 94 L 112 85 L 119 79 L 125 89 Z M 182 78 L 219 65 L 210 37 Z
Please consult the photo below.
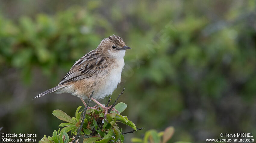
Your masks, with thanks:
M 116 105 L 117 111 L 119 113 L 127 107 L 126 104 L 120 102 Z M 70 132 L 71 136 L 77 134 L 77 130 L 81 126 L 82 122 L 82 112 L 78 107 L 75 112 L 75 117 L 70 117 L 65 112 L 61 110 L 54 110 L 52 114 L 65 123 L 61 123 L 59 127 L 63 127 L 61 130 L 59 128 L 58 132 L 55 130 L 52 133 L 52 137 L 44 136 L 39 143 L 68 143 L 71 142 L 73 138 L 69 138 L 68 134 Z M 103 116 L 102 116 L 103 114 Z M 86 116 L 84 119 L 83 127 L 80 135 L 83 136 L 83 143 L 113 143 L 113 142 L 123 142 L 124 138 L 121 134 L 121 129 L 119 129 L 117 122 L 121 122 L 132 127 L 136 130 L 135 124 L 128 120 L 127 116 L 119 115 L 115 112 L 106 114 L 106 120 L 104 119 L 104 112 L 101 108 L 97 109 L 87 109 Z

